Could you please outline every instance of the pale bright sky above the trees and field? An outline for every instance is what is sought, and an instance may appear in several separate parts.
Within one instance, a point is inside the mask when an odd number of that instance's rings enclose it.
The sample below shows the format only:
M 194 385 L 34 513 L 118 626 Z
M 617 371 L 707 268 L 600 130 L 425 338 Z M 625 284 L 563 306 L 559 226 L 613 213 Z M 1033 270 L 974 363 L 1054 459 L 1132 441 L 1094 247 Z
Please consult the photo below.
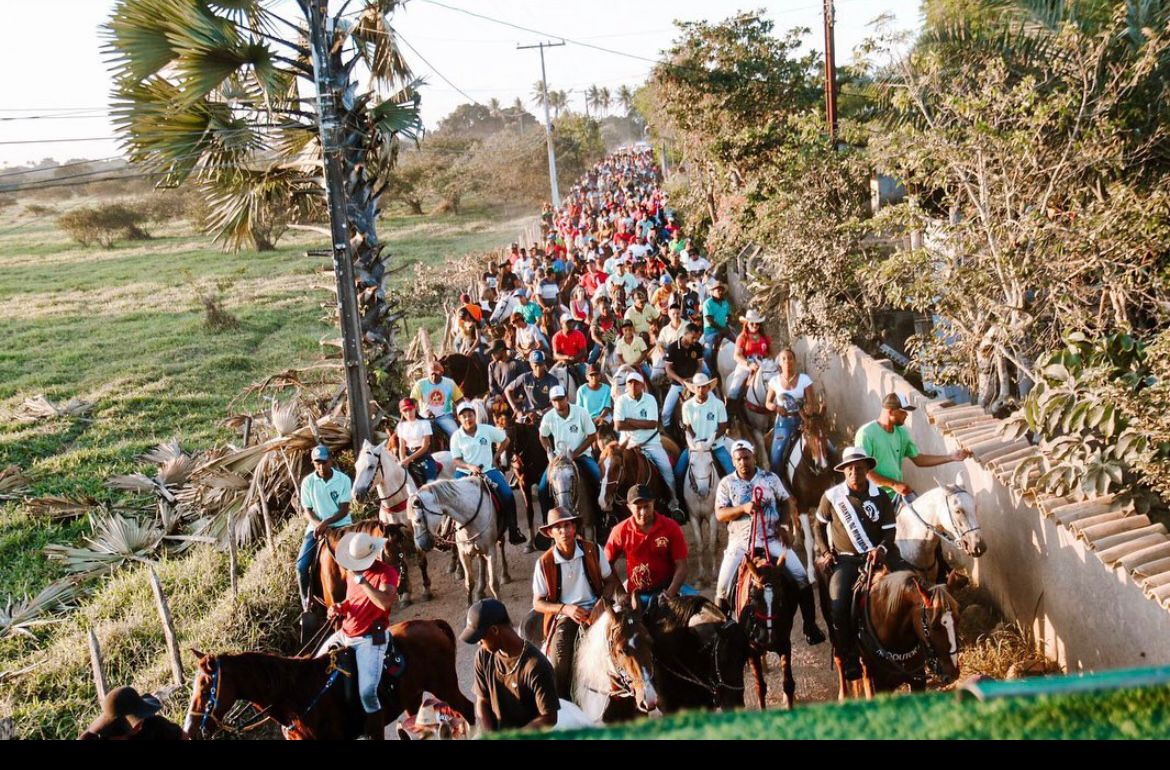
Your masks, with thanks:
M 879 15 L 890 14 L 897 29 L 921 26 L 921 0 L 835 4 L 839 64 L 851 61 L 853 48 L 873 34 L 869 22 Z M 98 34 L 113 6 L 115 0 L 5 0 L 6 23 L 21 32 L 6 34 L 0 47 L 0 71 L 6 74 L 0 78 L 0 167 L 49 157 L 63 163 L 121 156 L 105 115 L 111 80 Z M 291 2 L 276 0 L 276 6 Z M 778 30 L 808 27 L 806 44 L 823 50 L 821 6 L 819 0 L 408 0 L 393 23 L 407 43 L 407 61 L 427 81 L 421 89 L 422 118 L 429 129 L 467 103 L 468 96 L 484 103 L 497 97 L 504 104 L 519 96 L 536 112 L 531 92 L 541 77 L 539 51 L 517 50 L 517 44 L 567 35 L 619 51 L 574 43 L 545 50 L 549 88 L 570 91 L 570 105 L 580 111 L 581 91 L 591 84 L 615 91 L 644 82 L 653 63 L 642 59 L 658 59 L 670 46 L 677 32 L 674 20 L 716 22 L 741 11 L 762 9 Z M 292 13 L 294 7 L 285 7 L 287 18 Z M 22 71 L 29 76 L 14 75 Z

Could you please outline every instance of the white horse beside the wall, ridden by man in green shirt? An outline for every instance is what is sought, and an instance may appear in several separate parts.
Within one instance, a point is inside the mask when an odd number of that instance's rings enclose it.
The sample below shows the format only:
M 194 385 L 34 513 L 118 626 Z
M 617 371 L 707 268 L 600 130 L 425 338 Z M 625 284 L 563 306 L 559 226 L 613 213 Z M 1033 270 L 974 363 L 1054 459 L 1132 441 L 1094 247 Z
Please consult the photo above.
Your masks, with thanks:
M 958 483 L 925 491 L 897 511 L 897 549 L 928 583 L 936 583 L 943 566 L 941 542 L 962 550 L 971 558 L 983 556 L 979 522 L 975 517 L 975 497 Z M 952 586 L 957 572 L 948 576 Z

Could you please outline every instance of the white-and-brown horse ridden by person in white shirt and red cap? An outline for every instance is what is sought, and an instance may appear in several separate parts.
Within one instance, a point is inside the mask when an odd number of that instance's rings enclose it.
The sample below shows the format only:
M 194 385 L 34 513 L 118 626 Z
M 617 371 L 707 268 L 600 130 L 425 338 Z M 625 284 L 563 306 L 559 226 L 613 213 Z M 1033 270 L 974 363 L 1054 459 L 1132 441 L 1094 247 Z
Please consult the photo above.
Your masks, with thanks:
M 434 458 L 435 463 L 439 466 L 439 476 L 449 479 L 452 473 L 450 453 L 434 452 L 431 456 Z M 377 480 L 378 489 L 379 521 L 385 524 L 393 524 L 399 529 L 410 527 L 411 521 L 406 515 L 406 503 L 410 496 L 418 491 L 414 479 L 398 462 L 398 458 L 394 456 L 394 453 L 384 442 L 371 444 L 370 441 L 363 441 L 362 451 L 358 452 L 358 459 L 353 463 L 353 497 L 364 497 L 374 484 L 374 480 Z M 387 529 L 386 531 L 390 532 L 392 530 Z M 378 535 L 378 537 L 387 536 L 386 534 Z M 401 582 L 398 586 L 398 593 L 401 605 L 407 607 L 411 605 L 412 597 L 410 573 L 405 559 L 406 555 L 414 554 L 418 556 L 419 572 L 422 576 L 422 600 L 429 601 L 433 596 L 431 593 L 431 576 L 427 572 L 426 554 L 414 548 L 414 538 L 406 537 L 401 539 L 404 558 L 399 569 Z M 331 558 L 332 555 L 330 555 Z M 340 568 L 337 569 L 339 570 Z M 324 571 L 322 573 L 324 575 Z

